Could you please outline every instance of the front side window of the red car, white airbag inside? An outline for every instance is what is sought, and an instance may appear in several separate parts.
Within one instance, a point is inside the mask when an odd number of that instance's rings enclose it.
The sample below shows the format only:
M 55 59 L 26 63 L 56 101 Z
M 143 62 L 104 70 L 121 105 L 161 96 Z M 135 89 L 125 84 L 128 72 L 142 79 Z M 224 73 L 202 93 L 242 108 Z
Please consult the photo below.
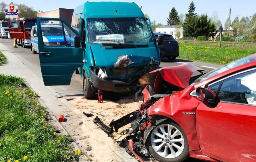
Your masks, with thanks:
M 255 80 L 256 70 L 228 78 L 223 81 L 218 98 L 221 101 L 256 105 Z M 211 86 L 209 86 L 210 89 L 214 84 Z

